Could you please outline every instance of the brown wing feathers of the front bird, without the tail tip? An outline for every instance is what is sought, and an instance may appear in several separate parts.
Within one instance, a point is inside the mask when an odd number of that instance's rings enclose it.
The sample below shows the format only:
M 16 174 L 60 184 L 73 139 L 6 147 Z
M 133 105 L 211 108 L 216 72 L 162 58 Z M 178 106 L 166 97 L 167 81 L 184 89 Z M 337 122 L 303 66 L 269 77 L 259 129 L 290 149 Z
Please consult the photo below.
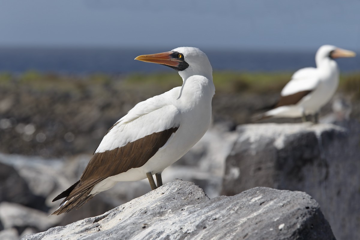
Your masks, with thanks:
M 92 188 L 107 177 L 143 166 L 177 129 L 178 127 L 156 132 L 120 148 L 95 153 L 82 173 L 79 184 L 74 187 L 67 199 Z

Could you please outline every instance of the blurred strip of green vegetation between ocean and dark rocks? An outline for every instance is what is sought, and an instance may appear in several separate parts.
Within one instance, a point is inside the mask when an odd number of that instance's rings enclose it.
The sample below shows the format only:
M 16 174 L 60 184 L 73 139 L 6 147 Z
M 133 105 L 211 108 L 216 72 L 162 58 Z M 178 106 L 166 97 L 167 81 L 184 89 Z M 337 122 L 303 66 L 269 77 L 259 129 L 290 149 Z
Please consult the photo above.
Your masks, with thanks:
M 213 72 L 216 92 L 279 92 L 290 80 L 291 72 Z M 57 90 L 63 92 L 105 91 L 104 89 L 137 90 L 163 92 L 181 85 L 181 78 L 176 72 L 157 72 L 150 74 L 132 73 L 126 76 L 112 76 L 94 73 L 87 76 L 58 75 L 27 71 L 20 75 L 8 72 L 0 73 L 0 85 L 13 83 L 13 86 L 33 90 Z M 344 92 L 359 93 L 360 72 L 343 74 L 339 89 Z M 359 94 L 357 94 L 359 95 Z

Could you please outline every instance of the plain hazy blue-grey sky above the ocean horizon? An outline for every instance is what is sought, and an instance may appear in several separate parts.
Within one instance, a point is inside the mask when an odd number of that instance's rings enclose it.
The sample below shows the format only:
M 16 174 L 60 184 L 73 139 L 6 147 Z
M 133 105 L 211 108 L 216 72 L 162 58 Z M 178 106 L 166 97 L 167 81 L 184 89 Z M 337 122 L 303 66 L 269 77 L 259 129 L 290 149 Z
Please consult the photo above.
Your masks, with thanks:
M 360 0 L 0 0 L 0 46 L 360 50 Z

